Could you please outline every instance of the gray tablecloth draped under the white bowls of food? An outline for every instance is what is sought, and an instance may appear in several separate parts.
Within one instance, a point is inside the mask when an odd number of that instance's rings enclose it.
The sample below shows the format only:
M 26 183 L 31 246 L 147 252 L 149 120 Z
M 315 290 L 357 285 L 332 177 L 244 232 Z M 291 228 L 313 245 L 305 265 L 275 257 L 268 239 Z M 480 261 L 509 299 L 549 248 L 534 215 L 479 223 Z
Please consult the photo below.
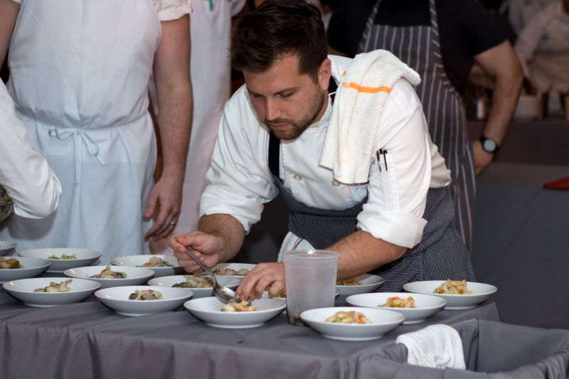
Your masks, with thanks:
M 355 378 L 358 356 L 400 333 L 466 319 L 498 320 L 486 302 L 441 311 L 376 341 L 333 341 L 287 324 L 217 329 L 184 310 L 119 316 L 98 301 L 31 308 L 0 292 L 0 378 Z

